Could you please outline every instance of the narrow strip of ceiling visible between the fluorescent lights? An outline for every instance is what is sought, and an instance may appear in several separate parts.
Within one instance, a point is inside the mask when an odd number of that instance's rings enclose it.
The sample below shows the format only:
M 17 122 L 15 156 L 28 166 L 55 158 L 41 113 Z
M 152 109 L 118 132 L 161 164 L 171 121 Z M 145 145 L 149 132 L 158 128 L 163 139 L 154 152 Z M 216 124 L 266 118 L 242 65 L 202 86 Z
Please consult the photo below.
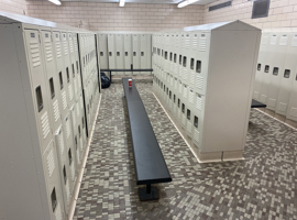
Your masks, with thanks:
M 92 1 L 92 2 L 105 2 L 105 3 L 119 3 L 119 0 L 62 0 L 62 1 Z M 184 0 L 125 0 L 127 3 L 170 3 L 177 4 Z M 194 4 L 208 4 L 218 0 L 200 0 Z

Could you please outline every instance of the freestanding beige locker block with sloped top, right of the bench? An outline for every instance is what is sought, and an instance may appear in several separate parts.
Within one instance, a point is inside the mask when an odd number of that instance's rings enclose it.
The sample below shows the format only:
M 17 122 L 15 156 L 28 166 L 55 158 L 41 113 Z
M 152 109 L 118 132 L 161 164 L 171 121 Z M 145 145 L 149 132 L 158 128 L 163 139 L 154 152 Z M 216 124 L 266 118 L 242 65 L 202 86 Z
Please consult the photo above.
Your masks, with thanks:
M 240 21 L 153 35 L 154 91 L 202 161 L 242 157 L 260 37 Z

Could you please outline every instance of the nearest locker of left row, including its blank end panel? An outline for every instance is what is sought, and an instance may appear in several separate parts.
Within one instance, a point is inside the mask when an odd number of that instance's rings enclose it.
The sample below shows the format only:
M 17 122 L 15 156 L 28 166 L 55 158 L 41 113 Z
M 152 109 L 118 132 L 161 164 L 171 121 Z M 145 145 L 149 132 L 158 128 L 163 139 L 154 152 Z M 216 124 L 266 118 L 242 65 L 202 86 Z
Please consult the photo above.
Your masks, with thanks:
M 0 59 L 0 101 L 4 103 L 0 106 L 1 217 L 62 220 L 64 204 L 42 36 L 38 26 L 19 22 L 20 15 L 18 20 L 8 15 L 12 14 L 1 12 L 0 16 L 4 52 Z

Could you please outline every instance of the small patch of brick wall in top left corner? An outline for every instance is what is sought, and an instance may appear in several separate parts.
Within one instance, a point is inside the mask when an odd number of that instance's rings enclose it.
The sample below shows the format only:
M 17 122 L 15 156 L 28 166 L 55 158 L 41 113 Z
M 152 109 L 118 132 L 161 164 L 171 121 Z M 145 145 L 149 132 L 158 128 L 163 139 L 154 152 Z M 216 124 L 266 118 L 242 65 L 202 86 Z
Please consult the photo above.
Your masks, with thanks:
M 0 0 L 0 11 L 26 14 L 25 0 Z

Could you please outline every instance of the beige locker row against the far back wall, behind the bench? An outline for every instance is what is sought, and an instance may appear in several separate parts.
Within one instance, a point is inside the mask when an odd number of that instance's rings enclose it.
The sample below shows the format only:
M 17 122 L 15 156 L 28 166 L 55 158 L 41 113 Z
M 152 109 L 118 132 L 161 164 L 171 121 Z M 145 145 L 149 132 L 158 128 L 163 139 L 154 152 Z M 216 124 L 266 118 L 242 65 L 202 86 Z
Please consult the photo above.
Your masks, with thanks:
M 102 69 L 151 69 L 152 34 L 99 33 Z M 139 75 L 147 72 L 114 72 L 116 75 Z

